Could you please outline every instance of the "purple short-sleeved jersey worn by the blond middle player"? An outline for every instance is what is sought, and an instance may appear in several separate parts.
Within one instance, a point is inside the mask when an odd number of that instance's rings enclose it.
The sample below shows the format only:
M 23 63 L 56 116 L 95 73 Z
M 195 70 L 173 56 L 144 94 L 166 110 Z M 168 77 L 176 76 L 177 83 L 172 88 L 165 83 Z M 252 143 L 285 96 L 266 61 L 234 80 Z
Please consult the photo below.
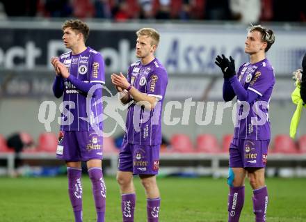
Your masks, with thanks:
M 138 145 L 161 144 L 161 111 L 168 84 L 166 69 L 157 58 L 147 65 L 137 61 L 129 67 L 127 79 L 141 93 L 156 97 L 158 102 L 151 111 L 136 103 L 129 106 L 124 141 Z

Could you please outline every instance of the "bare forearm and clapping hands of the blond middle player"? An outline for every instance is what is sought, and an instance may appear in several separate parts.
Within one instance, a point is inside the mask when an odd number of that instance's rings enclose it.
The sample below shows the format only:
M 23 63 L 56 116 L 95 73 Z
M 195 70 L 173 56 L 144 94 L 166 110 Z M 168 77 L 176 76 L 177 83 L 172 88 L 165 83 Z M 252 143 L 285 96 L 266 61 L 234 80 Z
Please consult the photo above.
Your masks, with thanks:
M 145 106 L 145 109 L 154 109 L 154 106 L 156 105 L 156 98 L 147 96 L 145 93 L 140 93 L 139 90 L 129 84 L 129 81 L 127 81 L 127 78 L 125 78 L 122 73 L 120 73 L 120 75 L 113 74 L 112 81 L 115 86 L 119 86 L 125 90 L 129 89 L 129 94 L 134 98 L 136 102 L 139 102 L 141 106 Z

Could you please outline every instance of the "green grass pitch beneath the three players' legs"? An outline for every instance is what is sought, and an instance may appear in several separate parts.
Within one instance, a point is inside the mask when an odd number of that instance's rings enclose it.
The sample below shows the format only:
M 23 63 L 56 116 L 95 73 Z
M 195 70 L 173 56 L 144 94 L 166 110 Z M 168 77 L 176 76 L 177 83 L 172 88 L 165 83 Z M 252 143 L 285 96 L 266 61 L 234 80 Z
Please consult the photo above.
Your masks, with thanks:
M 106 222 L 120 222 L 120 195 L 114 177 L 106 177 Z M 144 190 L 138 178 L 136 222 L 146 221 Z M 268 178 L 268 222 L 306 221 L 306 178 Z M 161 222 L 227 221 L 226 179 L 159 178 Z M 246 186 L 242 222 L 255 221 L 250 186 Z M 73 221 L 65 177 L 0 177 L 0 221 Z M 83 221 L 95 221 L 91 184 L 83 177 Z

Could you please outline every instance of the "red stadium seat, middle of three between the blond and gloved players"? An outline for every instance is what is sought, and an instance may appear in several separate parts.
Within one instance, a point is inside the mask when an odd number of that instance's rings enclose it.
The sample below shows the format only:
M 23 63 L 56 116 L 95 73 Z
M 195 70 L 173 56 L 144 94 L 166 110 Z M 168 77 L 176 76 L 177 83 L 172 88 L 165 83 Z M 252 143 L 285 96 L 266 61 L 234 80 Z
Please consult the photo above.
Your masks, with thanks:
M 212 134 L 202 134 L 197 137 L 197 152 L 220 152 L 220 147 L 216 136 Z

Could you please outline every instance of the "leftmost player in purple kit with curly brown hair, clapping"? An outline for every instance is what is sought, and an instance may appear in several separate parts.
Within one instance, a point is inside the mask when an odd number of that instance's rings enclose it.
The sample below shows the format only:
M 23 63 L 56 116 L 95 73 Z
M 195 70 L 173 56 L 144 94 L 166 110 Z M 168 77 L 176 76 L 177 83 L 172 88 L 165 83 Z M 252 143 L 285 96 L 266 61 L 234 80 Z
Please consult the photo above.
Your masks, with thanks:
M 82 219 L 81 161 L 86 161 L 92 182 L 92 193 L 97 210 L 97 222 L 104 222 L 106 187 L 102 175 L 102 130 L 98 116 L 102 104 L 102 88 L 90 90 L 104 84 L 104 60 L 99 52 L 86 47 L 89 29 L 80 20 L 69 20 L 63 24 L 63 42 L 71 51 L 59 58 L 51 58 L 56 71 L 53 91 L 59 98 L 63 95 L 61 132 L 58 138 L 56 157 L 67 164 L 68 193 L 76 222 Z M 92 93 L 93 91 L 93 93 Z M 86 111 L 86 101 L 90 104 Z

